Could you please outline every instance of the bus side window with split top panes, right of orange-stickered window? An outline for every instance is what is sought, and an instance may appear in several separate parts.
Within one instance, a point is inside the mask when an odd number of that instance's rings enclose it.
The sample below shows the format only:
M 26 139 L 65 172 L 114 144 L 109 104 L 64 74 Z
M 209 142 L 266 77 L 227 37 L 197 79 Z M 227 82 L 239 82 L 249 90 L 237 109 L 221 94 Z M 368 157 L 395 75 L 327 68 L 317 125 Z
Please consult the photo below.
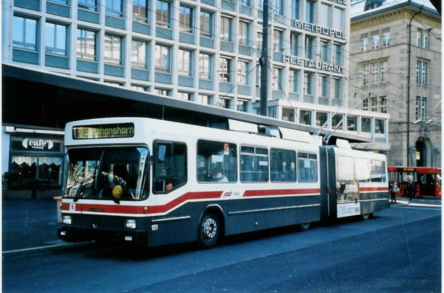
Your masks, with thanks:
M 241 182 L 268 182 L 268 149 L 255 146 L 240 147 Z

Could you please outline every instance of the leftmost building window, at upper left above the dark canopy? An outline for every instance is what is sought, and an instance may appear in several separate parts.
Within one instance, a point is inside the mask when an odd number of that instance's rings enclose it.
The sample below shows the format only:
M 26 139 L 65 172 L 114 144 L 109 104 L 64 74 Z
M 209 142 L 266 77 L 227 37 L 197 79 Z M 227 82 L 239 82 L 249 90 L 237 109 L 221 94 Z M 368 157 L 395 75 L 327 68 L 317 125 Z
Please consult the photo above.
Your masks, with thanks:
M 14 16 L 13 46 L 37 51 L 37 20 Z

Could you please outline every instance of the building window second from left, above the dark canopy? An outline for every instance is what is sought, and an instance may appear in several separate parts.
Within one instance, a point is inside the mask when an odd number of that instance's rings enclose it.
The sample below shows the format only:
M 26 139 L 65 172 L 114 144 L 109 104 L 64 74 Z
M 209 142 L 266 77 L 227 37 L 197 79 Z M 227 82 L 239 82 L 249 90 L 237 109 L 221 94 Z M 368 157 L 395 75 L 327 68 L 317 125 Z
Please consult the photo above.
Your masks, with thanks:
M 67 55 L 66 25 L 45 23 L 45 52 L 57 55 Z

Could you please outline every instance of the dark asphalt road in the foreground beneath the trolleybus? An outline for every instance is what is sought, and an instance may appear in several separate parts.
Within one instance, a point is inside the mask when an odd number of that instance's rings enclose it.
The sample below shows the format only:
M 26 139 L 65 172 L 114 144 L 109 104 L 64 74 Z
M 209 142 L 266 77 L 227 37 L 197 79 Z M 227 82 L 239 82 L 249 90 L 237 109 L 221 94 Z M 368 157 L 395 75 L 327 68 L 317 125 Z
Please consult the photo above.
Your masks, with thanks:
M 3 259 L 4 292 L 439 292 L 441 211 L 396 206 L 368 221 L 194 244 L 93 247 Z

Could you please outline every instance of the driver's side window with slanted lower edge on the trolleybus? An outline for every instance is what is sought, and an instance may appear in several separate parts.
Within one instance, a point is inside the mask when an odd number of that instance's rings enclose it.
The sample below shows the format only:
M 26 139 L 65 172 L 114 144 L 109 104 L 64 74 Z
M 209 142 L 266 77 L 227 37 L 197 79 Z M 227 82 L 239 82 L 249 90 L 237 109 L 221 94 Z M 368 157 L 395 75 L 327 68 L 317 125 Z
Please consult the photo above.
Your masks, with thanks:
M 187 182 L 187 147 L 185 143 L 154 143 L 153 192 L 168 193 Z

